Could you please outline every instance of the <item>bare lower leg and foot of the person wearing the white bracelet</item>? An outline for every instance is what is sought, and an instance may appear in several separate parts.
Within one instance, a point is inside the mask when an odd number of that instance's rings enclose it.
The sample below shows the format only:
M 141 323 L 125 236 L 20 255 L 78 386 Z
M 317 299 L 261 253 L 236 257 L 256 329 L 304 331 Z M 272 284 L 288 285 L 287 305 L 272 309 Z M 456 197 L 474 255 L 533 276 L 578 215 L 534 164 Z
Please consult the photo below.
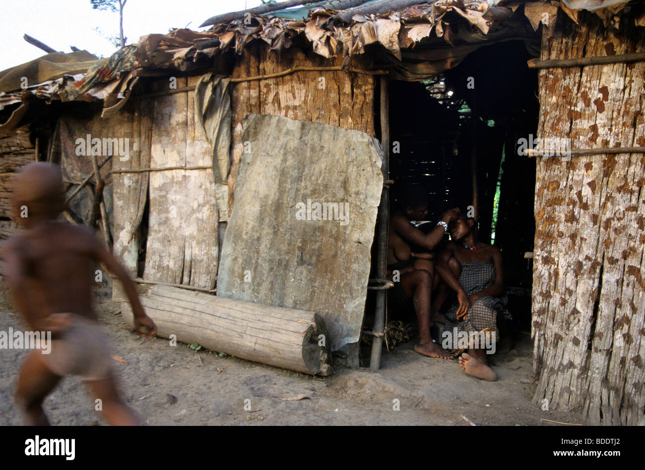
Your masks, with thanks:
M 452 359 L 452 355 L 445 352 L 432 342 L 430 334 L 430 290 L 432 288 L 432 274 L 425 269 L 417 269 L 401 276 L 401 288 L 407 297 L 412 297 L 414 310 L 417 314 L 419 326 L 419 343 L 414 350 L 419 354 L 441 359 Z

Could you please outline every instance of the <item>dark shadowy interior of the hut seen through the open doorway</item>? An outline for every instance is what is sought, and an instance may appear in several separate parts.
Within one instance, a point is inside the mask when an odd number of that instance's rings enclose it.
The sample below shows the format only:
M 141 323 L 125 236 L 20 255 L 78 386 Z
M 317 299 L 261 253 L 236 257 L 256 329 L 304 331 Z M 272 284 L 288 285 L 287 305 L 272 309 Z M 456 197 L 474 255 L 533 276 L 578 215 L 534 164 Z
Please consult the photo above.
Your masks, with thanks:
M 524 254 L 533 251 L 535 234 L 535 162 L 517 153 L 518 139 L 535 135 L 538 124 L 537 71 L 528 69 L 528 59 L 522 41 L 501 42 L 479 48 L 434 79 L 391 80 L 388 89 L 390 207 L 403 187 L 421 185 L 432 229 L 446 209 L 465 212 L 477 200 L 479 240 L 502 250 L 516 337 L 530 332 L 533 261 Z M 370 279 L 377 277 L 376 260 L 375 236 Z M 369 292 L 364 332 L 372 331 L 375 312 L 376 291 Z M 386 321 L 415 324 L 414 312 L 401 312 L 388 297 Z M 364 339 L 361 363 L 367 366 L 371 341 Z

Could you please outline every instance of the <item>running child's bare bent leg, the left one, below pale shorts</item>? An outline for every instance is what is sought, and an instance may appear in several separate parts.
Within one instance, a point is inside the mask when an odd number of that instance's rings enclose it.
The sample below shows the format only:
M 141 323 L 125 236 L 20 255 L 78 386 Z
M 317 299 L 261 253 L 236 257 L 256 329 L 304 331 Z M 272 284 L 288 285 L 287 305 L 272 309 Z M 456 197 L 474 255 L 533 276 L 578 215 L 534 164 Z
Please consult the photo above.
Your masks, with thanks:
M 41 359 L 39 350 L 28 353 L 18 376 L 15 402 L 23 415 L 25 426 L 49 426 L 43 401 L 61 380 Z

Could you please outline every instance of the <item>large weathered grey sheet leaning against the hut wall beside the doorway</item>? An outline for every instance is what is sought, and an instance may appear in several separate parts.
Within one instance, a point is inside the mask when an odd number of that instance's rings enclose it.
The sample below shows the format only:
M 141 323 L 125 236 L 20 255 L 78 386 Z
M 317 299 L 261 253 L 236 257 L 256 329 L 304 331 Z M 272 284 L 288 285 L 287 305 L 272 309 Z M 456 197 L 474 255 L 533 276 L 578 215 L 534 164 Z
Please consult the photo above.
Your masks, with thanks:
M 218 295 L 319 312 L 332 350 L 356 343 L 383 180 L 378 142 L 279 116 L 251 115 L 245 124 L 250 152 L 242 155 Z M 298 204 L 308 199 L 311 220 L 299 220 Z M 348 203 L 346 225 L 315 220 L 314 202 Z

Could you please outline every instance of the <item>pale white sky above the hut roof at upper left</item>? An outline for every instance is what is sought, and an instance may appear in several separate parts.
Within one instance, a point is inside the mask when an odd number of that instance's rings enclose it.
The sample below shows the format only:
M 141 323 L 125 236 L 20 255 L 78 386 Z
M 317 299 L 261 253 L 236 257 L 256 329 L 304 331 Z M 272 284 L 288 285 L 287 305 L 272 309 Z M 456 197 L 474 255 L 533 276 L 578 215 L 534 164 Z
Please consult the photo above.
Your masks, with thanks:
M 198 28 L 213 15 L 261 5 L 260 0 L 128 0 L 123 10 L 126 44 L 170 28 Z M 108 57 L 115 50 L 104 35 L 119 35 L 119 14 L 93 10 L 90 0 L 0 0 L 0 71 L 37 59 L 45 52 L 23 39 L 28 34 L 62 52 L 70 46 Z

